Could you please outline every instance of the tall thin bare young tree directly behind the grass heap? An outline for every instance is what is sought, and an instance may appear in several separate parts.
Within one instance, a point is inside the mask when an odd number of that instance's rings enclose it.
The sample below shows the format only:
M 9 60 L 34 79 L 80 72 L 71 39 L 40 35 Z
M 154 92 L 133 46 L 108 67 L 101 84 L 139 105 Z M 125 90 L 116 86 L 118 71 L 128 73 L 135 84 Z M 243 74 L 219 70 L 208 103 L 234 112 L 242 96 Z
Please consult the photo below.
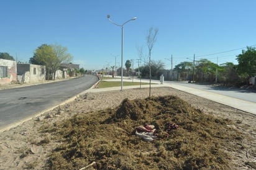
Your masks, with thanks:
M 157 33 L 158 29 L 153 29 L 151 27 L 149 29 L 149 35 L 147 35 L 147 47 L 149 48 L 149 97 L 151 94 L 151 66 L 150 66 L 150 60 L 151 60 L 151 51 L 153 46 L 155 45 L 155 42 L 157 41 Z

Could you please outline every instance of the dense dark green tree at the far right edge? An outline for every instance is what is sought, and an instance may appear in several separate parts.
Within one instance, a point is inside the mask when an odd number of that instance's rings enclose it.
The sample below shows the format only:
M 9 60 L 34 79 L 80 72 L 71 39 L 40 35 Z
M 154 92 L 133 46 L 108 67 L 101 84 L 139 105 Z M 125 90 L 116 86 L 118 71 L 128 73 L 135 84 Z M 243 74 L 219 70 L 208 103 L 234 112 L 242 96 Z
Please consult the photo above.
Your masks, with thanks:
M 255 47 L 247 47 L 247 50 L 242 50 L 242 54 L 237 56 L 238 67 L 237 71 L 241 77 L 247 79 L 256 75 L 256 50 Z

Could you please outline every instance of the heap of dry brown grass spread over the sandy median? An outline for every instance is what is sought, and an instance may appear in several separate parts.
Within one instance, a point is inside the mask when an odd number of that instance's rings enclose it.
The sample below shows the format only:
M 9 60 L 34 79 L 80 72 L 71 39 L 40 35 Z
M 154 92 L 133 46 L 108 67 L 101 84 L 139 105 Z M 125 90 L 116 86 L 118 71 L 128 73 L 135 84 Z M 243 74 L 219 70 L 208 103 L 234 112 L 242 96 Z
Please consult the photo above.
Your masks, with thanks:
M 179 127 L 166 135 L 165 125 Z M 48 132 L 62 141 L 50 157 L 50 169 L 229 169 L 225 146 L 243 136 L 231 122 L 191 107 L 175 96 L 125 99 L 116 109 L 78 114 L 54 123 Z M 152 124 L 158 140 L 134 134 L 138 125 Z

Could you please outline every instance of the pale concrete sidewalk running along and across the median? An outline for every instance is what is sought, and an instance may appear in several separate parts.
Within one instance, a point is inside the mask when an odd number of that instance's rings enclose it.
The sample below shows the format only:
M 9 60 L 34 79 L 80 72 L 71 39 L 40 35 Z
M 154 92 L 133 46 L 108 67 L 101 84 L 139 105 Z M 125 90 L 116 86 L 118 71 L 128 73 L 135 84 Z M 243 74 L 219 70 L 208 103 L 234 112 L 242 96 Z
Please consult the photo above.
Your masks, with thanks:
M 121 81 L 121 79 L 104 79 L 104 81 Z M 139 82 L 138 79 L 123 79 L 123 81 L 134 81 Z M 149 83 L 148 80 L 142 80 L 142 82 Z M 209 99 L 214 102 L 218 102 L 220 104 L 229 105 L 238 110 L 242 110 L 244 112 L 248 112 L 250 114 L 256 115 L 256 104 L 254 102 L 242 101 L 240 99 L 235 99 L 233 97 L 223 96 L 221 94 L 216 94 L 214 92 L 207 92 L 199 89 L 194 89 L 191 87 L 178 86 L 176 84 L 160 84 L 160 81 L 152 81 L 151 87 L 171 87 L 174 89 L 178 89 L 180 91 L 188 92 L 190 94 L 194 94 L 199 97 L 203 97 L 204 99 Z M 123 86 L 123 89 L 132 89 L 139 88 L 140 86 Z M 142 88 L 148 88 L 149 85 L 142 85 Z M 88 89 L 86 92 L 102 92 L 102 91 L 121 91 L 121 87 L 108 87 L 101 89 Z

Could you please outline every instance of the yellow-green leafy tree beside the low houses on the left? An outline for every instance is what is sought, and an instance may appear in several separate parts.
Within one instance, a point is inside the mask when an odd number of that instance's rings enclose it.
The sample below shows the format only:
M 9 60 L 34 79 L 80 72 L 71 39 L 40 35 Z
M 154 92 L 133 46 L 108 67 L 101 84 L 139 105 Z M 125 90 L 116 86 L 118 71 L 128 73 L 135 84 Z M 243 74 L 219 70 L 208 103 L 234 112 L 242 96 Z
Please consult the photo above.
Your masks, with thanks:
M 35 50 L 34 56 L 30 58 L 29 63 L 44 65 L 47 79 L 55 79 L 55 72 L 59 69 L 60 64 L 70 63 L 72 59 L 73 56 L 67 53 L 66 47 L 43 44 Z

